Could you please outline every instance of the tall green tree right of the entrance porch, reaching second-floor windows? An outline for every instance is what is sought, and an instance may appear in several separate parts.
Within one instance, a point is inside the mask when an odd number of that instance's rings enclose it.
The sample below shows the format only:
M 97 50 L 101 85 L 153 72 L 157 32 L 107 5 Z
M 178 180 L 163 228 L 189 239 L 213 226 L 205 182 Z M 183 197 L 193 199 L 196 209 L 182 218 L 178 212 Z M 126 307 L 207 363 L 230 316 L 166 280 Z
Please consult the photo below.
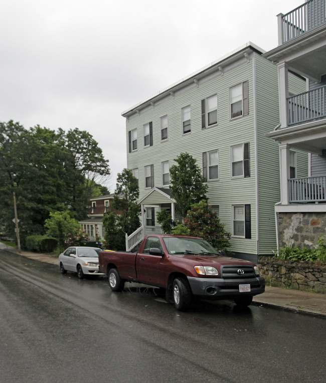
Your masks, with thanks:
M 181 153 L 175 159 L 177 165 L 170 167 L 170 190 L 176 200 L 176 208 L 185 217 L 190 206 L 202 200 L 207 201 L 208 186 L 196 160 L 188 153 Z

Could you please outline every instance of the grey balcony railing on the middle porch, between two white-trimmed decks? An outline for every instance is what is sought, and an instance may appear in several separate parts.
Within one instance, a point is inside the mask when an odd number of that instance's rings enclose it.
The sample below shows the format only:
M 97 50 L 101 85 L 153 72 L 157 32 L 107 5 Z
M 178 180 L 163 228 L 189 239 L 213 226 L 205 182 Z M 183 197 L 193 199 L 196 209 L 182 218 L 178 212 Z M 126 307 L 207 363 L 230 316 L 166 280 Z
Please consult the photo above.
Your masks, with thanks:
M 287 124 L 326 117 L 326 86 L 287 98 Z

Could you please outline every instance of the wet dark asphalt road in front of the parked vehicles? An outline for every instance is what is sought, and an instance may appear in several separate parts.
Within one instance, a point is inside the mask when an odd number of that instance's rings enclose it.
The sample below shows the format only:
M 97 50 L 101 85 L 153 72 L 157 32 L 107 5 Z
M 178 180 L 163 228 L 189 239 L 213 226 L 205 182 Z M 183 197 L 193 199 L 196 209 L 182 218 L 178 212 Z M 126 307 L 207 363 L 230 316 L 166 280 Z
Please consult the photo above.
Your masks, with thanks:
M 204 301 L 181 313 L 134 286 L 0 251 L 1 382 L 325 379 L 322 318 Z

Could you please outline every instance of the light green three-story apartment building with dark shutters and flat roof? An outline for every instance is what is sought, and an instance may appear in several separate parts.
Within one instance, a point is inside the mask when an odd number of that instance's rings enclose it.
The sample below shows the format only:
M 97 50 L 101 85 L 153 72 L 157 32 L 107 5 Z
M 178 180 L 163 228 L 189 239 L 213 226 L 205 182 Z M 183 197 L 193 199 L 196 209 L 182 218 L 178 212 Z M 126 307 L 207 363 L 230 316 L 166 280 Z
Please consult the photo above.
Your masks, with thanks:
M 209 203 L 232 233 L 236 256 L 257 261 L 276 248 L 279 156 L 266 134 L 279 122 L 278 78 L 263 53 L 247 43 L 122 113 L 127 167 L 138 179 L 142 205 L 133 244 L 145 227 L 155 228 L 157 211 L 168 208 L 175 216 L 169 168 L 187 152 L 203 171 Z M 305 90 L 302 78 L 288 77 L 293 94 Z M 306 157 L 297 156 L 301 176 L 307 176 Z

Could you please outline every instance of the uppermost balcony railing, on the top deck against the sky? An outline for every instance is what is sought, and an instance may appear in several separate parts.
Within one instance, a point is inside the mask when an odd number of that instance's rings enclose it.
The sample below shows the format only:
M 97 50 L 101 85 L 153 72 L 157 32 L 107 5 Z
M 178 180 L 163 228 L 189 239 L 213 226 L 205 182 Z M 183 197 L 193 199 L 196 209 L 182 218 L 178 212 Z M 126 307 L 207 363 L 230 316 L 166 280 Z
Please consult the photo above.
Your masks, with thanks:
M 279 15 L 280 43 L 294 39 L 326 22 L 325 0 L 310 0 L 286 15 Z

